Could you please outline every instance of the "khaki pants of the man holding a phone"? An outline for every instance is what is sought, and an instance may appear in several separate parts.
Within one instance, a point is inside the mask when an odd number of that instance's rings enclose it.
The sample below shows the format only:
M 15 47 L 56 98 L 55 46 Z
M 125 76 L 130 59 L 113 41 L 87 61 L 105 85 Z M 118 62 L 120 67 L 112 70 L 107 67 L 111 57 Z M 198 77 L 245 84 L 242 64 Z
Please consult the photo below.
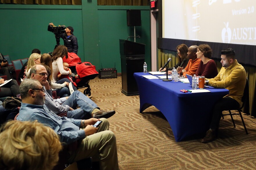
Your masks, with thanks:
M 115 134 L 109 131 L 109 122 L 101 118 L 101 126 L 96 134 L 86 136 L 78 149 L 70 153 L 69 162 L 75 162 L 85 158 L 99 161 L 100 169 L 119 169 L 116 149 Z

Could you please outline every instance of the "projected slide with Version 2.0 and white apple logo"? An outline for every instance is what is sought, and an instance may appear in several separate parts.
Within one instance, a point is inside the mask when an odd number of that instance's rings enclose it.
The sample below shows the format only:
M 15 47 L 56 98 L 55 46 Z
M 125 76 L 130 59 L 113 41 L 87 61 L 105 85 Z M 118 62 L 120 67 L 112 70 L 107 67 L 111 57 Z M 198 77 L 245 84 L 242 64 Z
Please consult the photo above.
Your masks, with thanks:
M 256 0 L 163 0 L 163 38 L 256 45 Z

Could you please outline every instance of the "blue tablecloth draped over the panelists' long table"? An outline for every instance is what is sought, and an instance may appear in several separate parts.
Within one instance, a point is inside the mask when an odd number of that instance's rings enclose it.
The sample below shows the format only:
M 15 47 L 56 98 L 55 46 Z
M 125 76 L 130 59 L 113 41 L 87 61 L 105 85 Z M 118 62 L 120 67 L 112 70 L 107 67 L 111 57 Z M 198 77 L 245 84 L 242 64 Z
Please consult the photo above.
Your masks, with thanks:
M 189 83 L 146 79 L 134 73 L 140 94 L 140 112 L 154 105 L 169 122 L 175 140 L 185 140 L 192 135 L 205 133 L 209 129 L 214 103 L 227 95 L 227 89 L 207 88 L 211 92 L 183 93 L 181 89 L 192 89 Z

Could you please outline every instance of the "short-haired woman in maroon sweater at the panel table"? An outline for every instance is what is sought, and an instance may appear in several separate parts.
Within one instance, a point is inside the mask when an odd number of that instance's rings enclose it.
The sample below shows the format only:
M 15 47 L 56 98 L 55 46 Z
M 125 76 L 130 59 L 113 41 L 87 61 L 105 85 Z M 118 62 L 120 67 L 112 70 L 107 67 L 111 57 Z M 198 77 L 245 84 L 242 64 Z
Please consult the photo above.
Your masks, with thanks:
M 201 59 L 198 65 L 196 76 L 205 76 L 205 78 L 214 78 L 218 74 L 217 66 L 214 60 L 211 59 L 211 47 L 208 44 L 198 46 L 197 58 Z

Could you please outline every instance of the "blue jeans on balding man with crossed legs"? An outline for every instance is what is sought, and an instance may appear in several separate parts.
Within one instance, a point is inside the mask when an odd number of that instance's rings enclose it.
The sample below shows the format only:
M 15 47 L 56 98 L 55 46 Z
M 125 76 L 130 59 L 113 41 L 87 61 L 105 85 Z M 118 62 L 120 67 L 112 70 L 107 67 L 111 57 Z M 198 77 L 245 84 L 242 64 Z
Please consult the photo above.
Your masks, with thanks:
M 96 108 L 99 109 L 91 99 L 79 91 L 74 91 L 63 105 L 68 105 L 72 109 L 75 109 L 67 111 L 67 117 L 74 119 L 91 118 L 92 111 Z M 77 105 L 80 107 L 79 109 L 77 109 Z

